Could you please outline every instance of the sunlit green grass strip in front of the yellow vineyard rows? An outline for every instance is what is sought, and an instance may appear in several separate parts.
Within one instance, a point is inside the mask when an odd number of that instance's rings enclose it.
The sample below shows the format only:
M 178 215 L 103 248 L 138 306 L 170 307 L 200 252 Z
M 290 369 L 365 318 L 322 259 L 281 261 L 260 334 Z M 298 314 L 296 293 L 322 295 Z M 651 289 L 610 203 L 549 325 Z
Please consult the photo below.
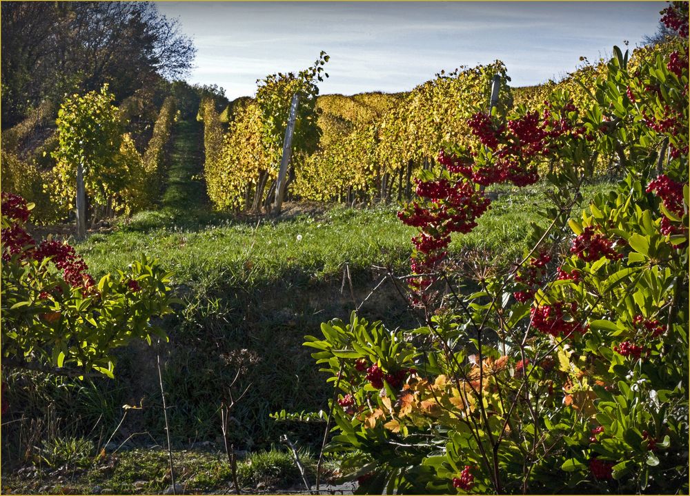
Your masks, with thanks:
M 540 192 L 524 188 L 501 195 L 473 232 L 453 235 L 451 251 L 476 248 L 504 259 L 519 257 L 529 225 L 542 222 Z M 78 250 L 95 275 L 123 268 L 146 253 L 159 259 L 177 284 L 222 278 L 226 284 L 255 286 L 290 275 L 328 279 L 342 277 L 344 264 L 351 270 L 372 265 L 405 270 L 416 230 L 404 226 L 395 210 L 334 207 L 287 221 L 259 219 L 257 225 L 208 214 L 194 219 L 206 224 L 193 226 L 165 210 L 144 212 L 113 234 L 91 236 Z

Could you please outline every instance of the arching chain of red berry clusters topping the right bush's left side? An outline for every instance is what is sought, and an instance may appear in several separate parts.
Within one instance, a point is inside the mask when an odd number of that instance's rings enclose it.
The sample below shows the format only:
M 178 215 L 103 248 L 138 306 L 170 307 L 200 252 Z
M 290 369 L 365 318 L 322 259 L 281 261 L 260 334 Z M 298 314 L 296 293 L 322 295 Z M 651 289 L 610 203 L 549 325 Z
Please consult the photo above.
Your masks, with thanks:
M 445 248 L 451 241 L 453 232 L 470 232 L 477 226 L 476 219 L 489 208 L 490 201 L 476 185 L 490 186 L 494 183 L 511 182 L 515 186 L 527 186 L 539 180 L 534 159 L 551 155 L 558 146 L 551 146 L 553 139 L 567 135 L 582 137 L 585 128 L 576 126 L 573 112 L 578 108 L 572 101 L 560 108 L 547 110 L 544 118 L 539 112 L 508 121 L 507 125 L 497 123 L 491 115 L 477 112 L 467 121 L 473 135 L 480 142 L 494 150 L 495 163 L 477 167 L 471 157 L 477 153 L 466 153 L 457 157 L 444 150 L 438 155 L 438 162 L 451 174 L 462 178 L 453 181 L 442 178 L 433 181 L 417 181 L 417 196 L 424 202 L 414 202 L 398 212 L 398 217 L 408 226 L 420 229 L 420 235 L 413 238 L 413 273 L 422 275 L 436 270 L 446 257 Z M 589 139 L 589 138 L 588 138 Z M 421 205 L 420 205 L 421 204 Z M 424 291 L 433 286 L 435 279 L 425 276 L 410 282 L 413 302 L 424 304 L 431 301 L 431 295 Z M 516 292 L 515 297 L 527 301 L 532 297 L 531 290 Z

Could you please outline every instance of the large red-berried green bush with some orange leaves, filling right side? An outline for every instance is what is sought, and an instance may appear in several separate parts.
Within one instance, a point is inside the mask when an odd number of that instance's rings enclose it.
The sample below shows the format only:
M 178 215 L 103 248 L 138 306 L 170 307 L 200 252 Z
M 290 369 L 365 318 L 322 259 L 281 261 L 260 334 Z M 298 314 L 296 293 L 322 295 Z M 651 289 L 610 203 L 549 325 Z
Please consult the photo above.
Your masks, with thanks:
M 687 492 L 687 4 L 665 13 L 680 50 L 629 70 L 614 48 L 586 106 L 556 92 L 544 112 L 477 112 L 482 146 L 442 152 L 440 177 L 417 181 L 400 218 L 420 230 L 425 326 L 353 315 L 307 337 L 339 393 L 328 450 L 360 492 Z M 608 153 L 624 179 L 572 212 Z M 551 222 L 524 258 L 504 273 L 453 264 L 451 234 L 489 208 L 481 186 L 540 170 L 558 171 L 542 178 Z

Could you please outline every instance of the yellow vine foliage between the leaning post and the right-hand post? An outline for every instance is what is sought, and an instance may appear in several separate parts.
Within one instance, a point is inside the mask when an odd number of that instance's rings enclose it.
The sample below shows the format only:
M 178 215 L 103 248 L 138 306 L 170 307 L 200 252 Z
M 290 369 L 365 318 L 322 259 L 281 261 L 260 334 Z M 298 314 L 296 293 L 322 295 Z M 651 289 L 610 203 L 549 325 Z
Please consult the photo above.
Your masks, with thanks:
M 397 188 L 400 195 L 408 163 L 415 172 L 432 163 L 443 143 L 472 142 L 466 121 L 487 110 L 496 74 L 502 80 L 497 110 L 505 112 L 512 97 L 500 61 L 437 75 L 407 95 L 320 97 L 324 135 L 319 150 L 296 170 L 293 192 L 317 201 L 342 199 L 349 191 L 386 197 Z

